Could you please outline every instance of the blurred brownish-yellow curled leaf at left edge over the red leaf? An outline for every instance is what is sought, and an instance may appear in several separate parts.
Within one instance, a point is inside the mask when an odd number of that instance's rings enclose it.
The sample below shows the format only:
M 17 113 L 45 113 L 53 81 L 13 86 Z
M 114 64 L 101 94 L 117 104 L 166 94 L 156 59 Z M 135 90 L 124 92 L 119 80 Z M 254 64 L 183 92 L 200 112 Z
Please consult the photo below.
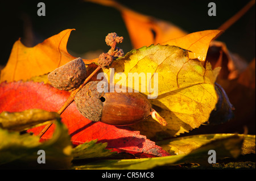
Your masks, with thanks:
M 39 124 L 47 124 L 55 119 L 59 119 L 60 115 L 56 112 L 48 112 L 39 109 L 25 110 L 22 112 L 7 112 L 0 113 L 0 128 L 9 129 L 12 131 L 23 131 L 38 126 Z

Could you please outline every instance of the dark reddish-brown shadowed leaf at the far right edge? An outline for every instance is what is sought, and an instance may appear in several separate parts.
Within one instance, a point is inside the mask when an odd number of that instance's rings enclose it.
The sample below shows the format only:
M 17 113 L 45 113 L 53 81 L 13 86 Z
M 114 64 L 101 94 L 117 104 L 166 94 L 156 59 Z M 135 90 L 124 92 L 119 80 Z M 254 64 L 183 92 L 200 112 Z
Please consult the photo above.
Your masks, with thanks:
M 219 131 L 232 131 L 243 128 L 254 130 L 255 125 L 255 59 L 236 79 L 219 78 L 230 102 L 233 104 L 234 119 L 218 128 Z

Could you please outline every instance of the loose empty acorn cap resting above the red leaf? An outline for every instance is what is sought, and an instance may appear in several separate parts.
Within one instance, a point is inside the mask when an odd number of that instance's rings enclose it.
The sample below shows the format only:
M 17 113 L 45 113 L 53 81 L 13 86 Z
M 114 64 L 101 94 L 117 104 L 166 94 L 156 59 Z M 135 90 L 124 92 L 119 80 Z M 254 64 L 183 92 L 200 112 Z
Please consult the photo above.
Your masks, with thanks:
M 82 58 L 76 58 L 48 74 L 51 85 L 60 90 L 74 90 L 86 78 L 86 67 Z

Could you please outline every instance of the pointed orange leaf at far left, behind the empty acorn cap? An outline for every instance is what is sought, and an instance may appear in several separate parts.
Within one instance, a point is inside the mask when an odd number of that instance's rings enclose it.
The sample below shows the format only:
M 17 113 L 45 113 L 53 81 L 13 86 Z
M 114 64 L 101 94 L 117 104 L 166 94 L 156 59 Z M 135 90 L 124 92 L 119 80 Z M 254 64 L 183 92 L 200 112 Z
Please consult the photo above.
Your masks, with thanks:
M 72 30 L 75 29 L 64 30 L 35 47 L 24 46 L 20 39 L 16 41 L 7 65 L 1 71 L 0 82 L 26 80 L 47 74 L 75 59 L 76 57 L 67 51 L 67 42 Z M 84 61 L 85 64 L 91 63 L 91 61 Z

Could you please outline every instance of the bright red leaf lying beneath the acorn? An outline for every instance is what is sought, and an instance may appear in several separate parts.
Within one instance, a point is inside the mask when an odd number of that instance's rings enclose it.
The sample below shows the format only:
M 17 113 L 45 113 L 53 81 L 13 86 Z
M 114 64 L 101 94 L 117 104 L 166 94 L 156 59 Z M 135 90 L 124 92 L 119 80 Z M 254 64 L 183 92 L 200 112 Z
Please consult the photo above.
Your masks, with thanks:
M 3 82 L 0 84 L 0 112 L 17 112 L 31 108 L 57 112 L 69 94 L 68 91 L 57 90 L 38 82 Z M 98 139 L 98 142 L 108 142 L 107 148 L 118 152 L 125 151 L 141 157 L 168 155 L 155 142 L 129 127 L 115 127 L 86 119 L 77 110 L 75 102 L 61 114 L 61 118 L 69 129 L 74 145 Z M 42 129 L 43 126 L 29 131 L 37 135 Z M 53 130 L 54 127 L 49 128 L 42 138 L 51 138 Z

